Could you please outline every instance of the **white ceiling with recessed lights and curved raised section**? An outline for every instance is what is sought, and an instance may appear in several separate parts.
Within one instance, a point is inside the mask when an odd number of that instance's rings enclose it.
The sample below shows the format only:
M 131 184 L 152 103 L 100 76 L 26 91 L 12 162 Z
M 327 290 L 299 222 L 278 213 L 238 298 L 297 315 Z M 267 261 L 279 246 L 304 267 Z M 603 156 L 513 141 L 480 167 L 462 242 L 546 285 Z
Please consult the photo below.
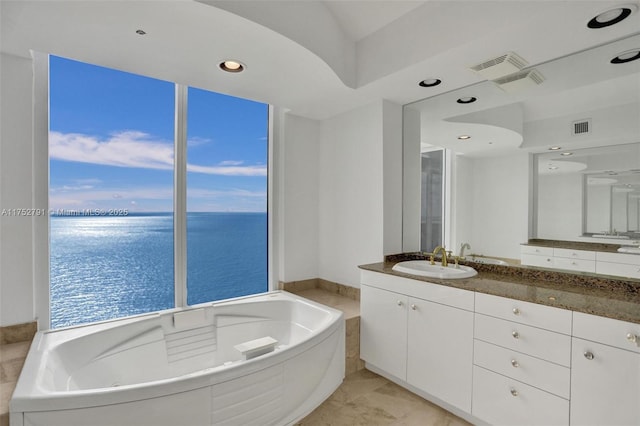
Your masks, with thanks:
M 539 64 L 638 32 L 640 13 L 586 27 L 621 3 L 629 1 L 2 0 L 0 50 L 51 53 L 325 119 L 484 81 L 468 66 L 508 51 Z M 220 71 L 228 58 L 247 69 Z M 418 86 L 430 77 L 443 83 Z

